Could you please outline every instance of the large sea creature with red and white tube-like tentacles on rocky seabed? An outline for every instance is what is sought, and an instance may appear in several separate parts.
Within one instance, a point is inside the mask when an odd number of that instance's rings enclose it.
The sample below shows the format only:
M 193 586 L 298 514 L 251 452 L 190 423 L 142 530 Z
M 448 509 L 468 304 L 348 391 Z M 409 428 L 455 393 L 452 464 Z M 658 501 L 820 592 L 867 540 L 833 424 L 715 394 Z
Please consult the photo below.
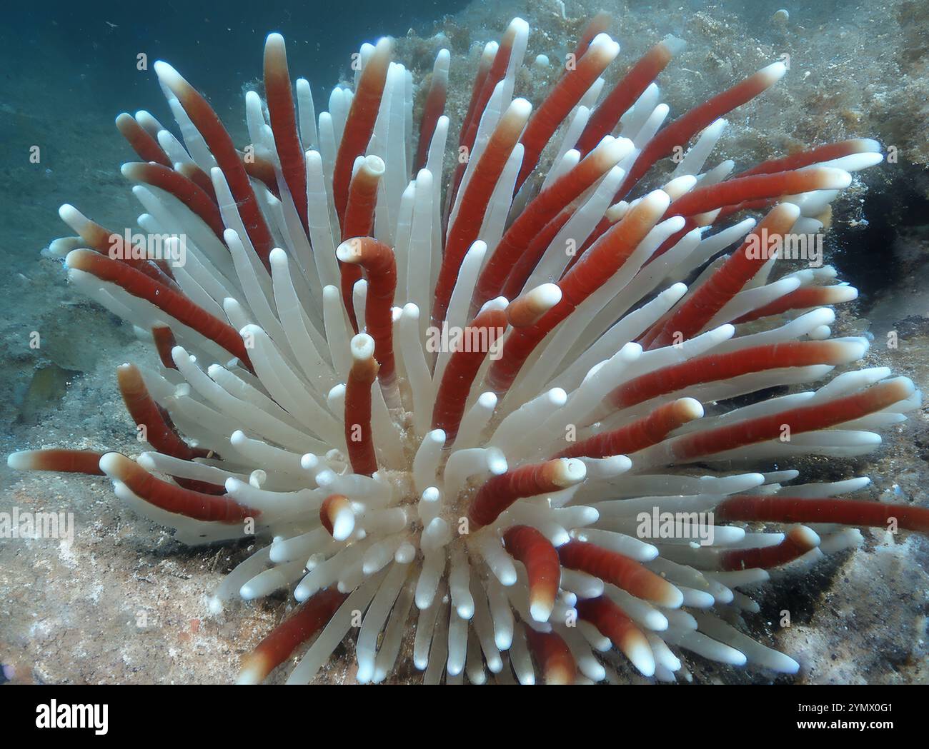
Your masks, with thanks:
M 929 510 L 845 497 L 867 478 L 782 467 L 868 452 L 920 403 L 885 368 L 787 387 L 868 349 L 831 338 L 856 291 L 830 266 L 772 272 L 879 145 L 703 171 L 721 118 L 785 65 L 664 124 L 655 79 L 683 43 L 605 91 L 607 24 L 533 110 L 513 97 L 514 19 L 483 48 L 456 149 L 445 49 L 417 93 L 391 40 L 362 45 L 354 91 L 317 119 L 272 33 L 242 150 L 158 62 L 181 139 L 145 111 L 116 120 L 142 160 L 123 167 L 142 233 L 61 207 L 68 277 L 159 355 L 117 370 L 152 449 L 8 463 L 106 474 L 185 543 L 271 539 L 211 599 L 299 601 L 242 681 L 295 659 L 288 681 L 307 682 L 350 633 L 360 682 L 401 650 L 427 683 L 616 680 L 622 656 L 674 681 L 684 652 L 792 674 L 744 631 L 759 607 L 739 588 L 856 546 L 849 526 L 929 531 Z

